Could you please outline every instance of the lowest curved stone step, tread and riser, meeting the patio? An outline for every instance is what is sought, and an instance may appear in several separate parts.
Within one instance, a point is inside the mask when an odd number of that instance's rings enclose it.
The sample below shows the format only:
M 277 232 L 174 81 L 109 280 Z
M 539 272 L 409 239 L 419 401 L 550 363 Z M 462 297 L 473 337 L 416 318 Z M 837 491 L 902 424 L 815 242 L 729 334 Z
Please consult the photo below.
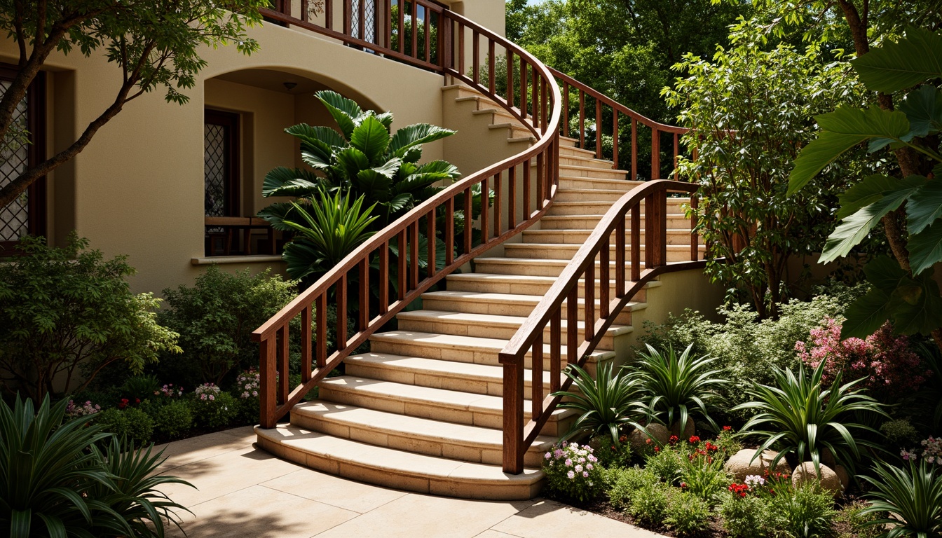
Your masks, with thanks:
M 446 497 L 528 499 L 539 492 L 543 471 L 519 475 L 499 465 L 475 464 L 395 448 L 377 447 L 296 426 L 255 427 L 258 444 L 300 465 L 397 489 Z

